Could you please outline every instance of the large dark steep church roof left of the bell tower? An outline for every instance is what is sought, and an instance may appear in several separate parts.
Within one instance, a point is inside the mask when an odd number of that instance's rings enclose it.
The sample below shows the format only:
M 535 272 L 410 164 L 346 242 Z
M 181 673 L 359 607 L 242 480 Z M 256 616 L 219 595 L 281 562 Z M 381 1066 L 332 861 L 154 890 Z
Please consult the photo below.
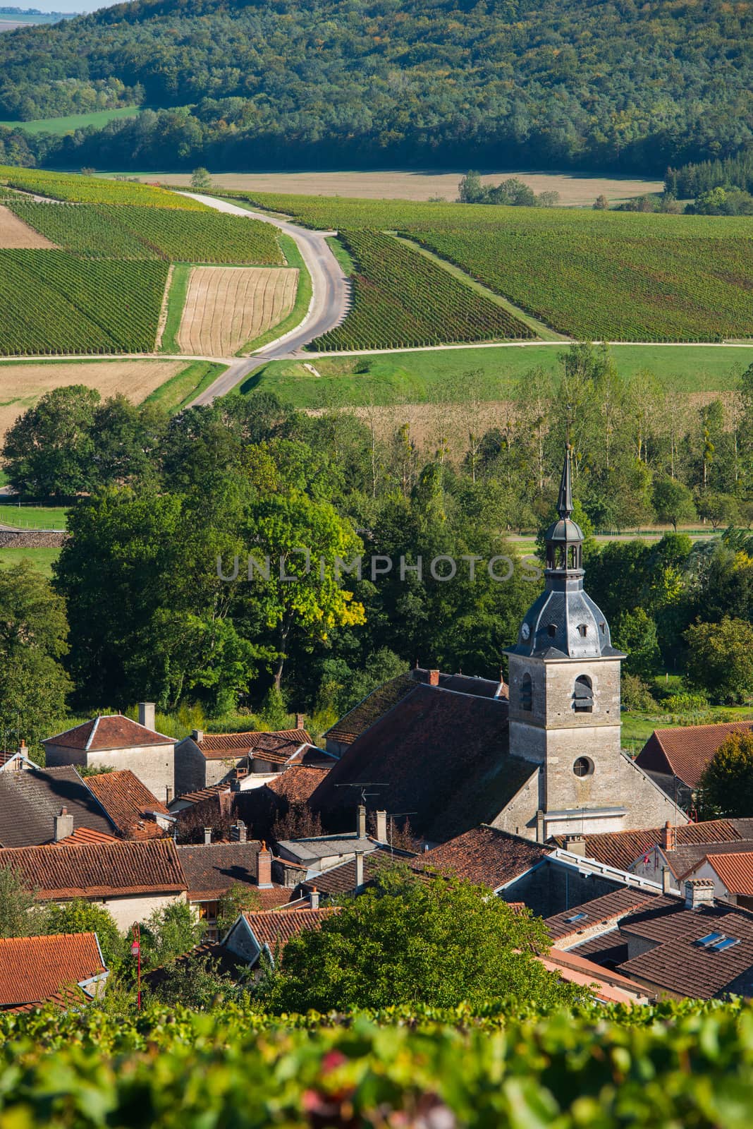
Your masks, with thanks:
M 338 786 L 378 781 L 380 807 L 415 813 L 414 833 L 444 842 L 490 823 L 538 772 L 510 755 L 506 700 L 419 684 L 353 742 L 310 805 L 326 829 L 342 831 L 356 793 Z

